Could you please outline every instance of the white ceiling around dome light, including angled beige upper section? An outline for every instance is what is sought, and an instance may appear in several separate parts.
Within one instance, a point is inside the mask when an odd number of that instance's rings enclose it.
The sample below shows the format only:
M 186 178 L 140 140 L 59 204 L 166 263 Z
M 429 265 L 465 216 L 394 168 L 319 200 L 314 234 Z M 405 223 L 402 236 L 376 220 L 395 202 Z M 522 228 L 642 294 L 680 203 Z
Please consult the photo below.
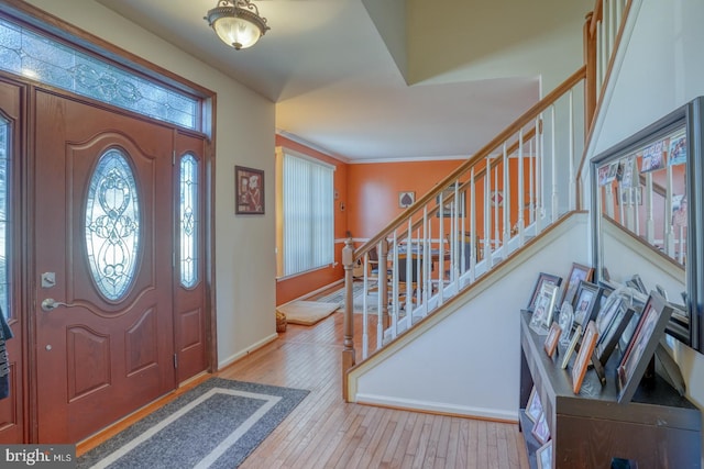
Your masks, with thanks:
M 260 0 L 234 51 L 216 0 L 96 0 L 276 103 L 276 127 L 350 163 L 472 155 L 582 64 L 593 0 Z M 366 5 L 365 5 L 366 4 Z

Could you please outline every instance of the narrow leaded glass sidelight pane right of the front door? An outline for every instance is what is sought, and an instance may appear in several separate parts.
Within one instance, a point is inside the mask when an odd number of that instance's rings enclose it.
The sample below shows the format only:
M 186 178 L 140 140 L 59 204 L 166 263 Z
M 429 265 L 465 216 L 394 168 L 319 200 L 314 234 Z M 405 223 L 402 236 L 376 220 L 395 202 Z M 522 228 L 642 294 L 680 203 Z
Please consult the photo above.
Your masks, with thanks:
M 198 161 L 193 155 L 180 159 L 180 283 L 186 288 L 198 282 Z

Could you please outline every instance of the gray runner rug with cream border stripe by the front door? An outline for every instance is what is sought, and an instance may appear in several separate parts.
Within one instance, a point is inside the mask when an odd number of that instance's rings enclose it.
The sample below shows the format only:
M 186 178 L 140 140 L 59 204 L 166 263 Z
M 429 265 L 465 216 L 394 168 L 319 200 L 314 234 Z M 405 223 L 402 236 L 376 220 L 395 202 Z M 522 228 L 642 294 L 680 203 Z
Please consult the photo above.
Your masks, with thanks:
M 237 468 L 308 392 L 211 378 L 82 455 L 78 468 Z

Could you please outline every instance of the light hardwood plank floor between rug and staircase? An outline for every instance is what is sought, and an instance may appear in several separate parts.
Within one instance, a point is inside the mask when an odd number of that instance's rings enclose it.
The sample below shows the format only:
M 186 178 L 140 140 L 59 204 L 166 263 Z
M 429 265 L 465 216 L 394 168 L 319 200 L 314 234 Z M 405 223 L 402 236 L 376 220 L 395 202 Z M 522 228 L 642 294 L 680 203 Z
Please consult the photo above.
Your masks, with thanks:
M 315 326 L 289 324 L 217 373 L 310 390 L 241 468 L 529 468 L 517 424 L 343 402 L 342 319 L 337 312 Z

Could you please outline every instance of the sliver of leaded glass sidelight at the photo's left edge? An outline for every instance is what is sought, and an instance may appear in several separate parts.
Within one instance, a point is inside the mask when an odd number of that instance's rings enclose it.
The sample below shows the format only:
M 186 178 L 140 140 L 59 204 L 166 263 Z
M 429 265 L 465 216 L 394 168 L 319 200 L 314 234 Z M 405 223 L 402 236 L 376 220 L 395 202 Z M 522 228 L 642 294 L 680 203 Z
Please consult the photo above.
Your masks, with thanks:
M 9 265 L 9 226 L 10 208 L 8 197 L 10 190 L 10 123 L 0 118 L 0 308 L 6 317 L 10 316 L 10 265 Z

